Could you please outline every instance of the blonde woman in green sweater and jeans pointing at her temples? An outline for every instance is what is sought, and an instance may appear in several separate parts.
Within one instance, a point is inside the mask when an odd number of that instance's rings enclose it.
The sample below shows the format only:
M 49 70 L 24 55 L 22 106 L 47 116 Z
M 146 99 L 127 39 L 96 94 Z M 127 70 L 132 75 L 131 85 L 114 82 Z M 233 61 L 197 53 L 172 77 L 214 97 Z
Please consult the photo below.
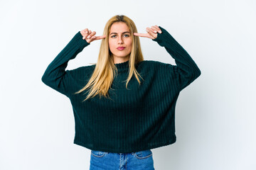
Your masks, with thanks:
M 151 149 L 176 142 L 178 94 L 201 71 L 164 28 L 146 31 L 113 16 L 101 36 L 79 31 L 43 74 L 43 83 L 70 98 L 74 143 L 91 149 L 90 169 L 154 169 Z M 144 60 L 139 37 L 165 47 L 176 65 Z M 102 40 L 97 64 L 65 70 L 94 40 Z

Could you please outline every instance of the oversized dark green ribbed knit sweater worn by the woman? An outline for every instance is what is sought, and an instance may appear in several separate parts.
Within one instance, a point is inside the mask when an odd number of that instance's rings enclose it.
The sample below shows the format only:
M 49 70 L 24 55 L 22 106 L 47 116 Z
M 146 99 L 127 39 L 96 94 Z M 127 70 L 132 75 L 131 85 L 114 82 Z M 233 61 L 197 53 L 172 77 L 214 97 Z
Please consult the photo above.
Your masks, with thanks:
M 171 145 L 176 142 L 175 106 L 178 94 L 191 84 L 201 71 L 186 50 L 164 29 L 154 41 L 165 47 L 176 65 L 144 60 L 136 64 L 142 76 L 139 86 L 133 76 L 128 90 L 125 80 L 129 61 L 115 64 L 117 76 L 109 90 L 110 98 L 95 96 L 85 102 L 83 91 L 95 64 L 65 70 L 84 47 L 80 31 L 51 62 L 42 81 L 52 89 L 70 98 L 75 117 L 74 144 L 103 152 L 138 152 Z

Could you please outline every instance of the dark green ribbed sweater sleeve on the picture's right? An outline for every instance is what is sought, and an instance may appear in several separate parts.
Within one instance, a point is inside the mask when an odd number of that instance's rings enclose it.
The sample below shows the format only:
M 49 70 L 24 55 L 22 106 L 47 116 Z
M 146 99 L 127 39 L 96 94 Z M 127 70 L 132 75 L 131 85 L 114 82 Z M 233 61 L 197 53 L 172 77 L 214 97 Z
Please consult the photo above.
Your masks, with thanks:
M 160 26 L 159 28 L 162 33 L 157 33 L 157 38 L 153 40 L 164 47 L 171 57 L 174 58 L 176 66 L 166 64 L 166 72 L 175 72 L 178 89 L 181 91 L 199 77 L 201 71 L 191 56 L 188 55 L 188 52 L 164 28 Z

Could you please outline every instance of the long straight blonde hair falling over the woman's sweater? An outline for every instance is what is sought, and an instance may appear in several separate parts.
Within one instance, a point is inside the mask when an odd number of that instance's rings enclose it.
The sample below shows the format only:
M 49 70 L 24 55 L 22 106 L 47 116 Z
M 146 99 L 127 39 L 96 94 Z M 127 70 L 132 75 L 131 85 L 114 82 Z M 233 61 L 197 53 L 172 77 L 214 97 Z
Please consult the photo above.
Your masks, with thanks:
M 84 101 L 86 101 L 90 97 L 96 96 L 97 94 L 100 94 L 100 97 L 109 96 L 108 90 L 110 89 L 114 77 L 117 75 L 117 67 L 115 67 L 114 65 L 113 55 L 110 51 L 108 43 L 108 35 L 110 34 L 110 28 L 112 24 L 115 22 L 126 23 L 132 36 L 132 51 L 129 57 L 129 75 L 126 80 L 126 88 L 129 83 L 129 80 L 132 79 L 133 74 L 136 77 L 137 81 L 139 82 L 139 85 L 141 84 L 141 82 L 139 81 L 139 77 L 141 76 L 139 75 L 135 68 L 135 64 L 142 62 L 144 60 L 141 45 L 139 42 L 139 37 L 134 36 L 134 33 L 137 33 L 137 28 L 132 19 L 128 18 L 127 16 L 113 16 L 112 18 L 110 18 L 109 21 L 107 21 L 105 25 L 103 35 L 106 35 L 106 38 L 102 39 L 97 64 L 92 73 L 92 76 L 90 77 L 90 80 L 88 81 L 86 86 L 80 89 L 80 91 L 75 92 L 75 94 L 79 94 L 82 91 L 85 91 L 86 89 L 90 88 L 89 94 L 87 95 Z

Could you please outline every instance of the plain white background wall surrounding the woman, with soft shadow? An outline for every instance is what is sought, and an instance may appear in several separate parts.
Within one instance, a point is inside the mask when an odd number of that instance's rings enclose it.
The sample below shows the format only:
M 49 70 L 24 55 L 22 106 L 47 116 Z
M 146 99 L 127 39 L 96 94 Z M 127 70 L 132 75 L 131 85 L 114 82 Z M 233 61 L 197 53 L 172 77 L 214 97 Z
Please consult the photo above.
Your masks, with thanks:
M 102 35 L 116 14 L 140 33 L 161 26 L 191 55 L 201 77 L 181 91 L 173 145 L 152 149 L 157 170 L 256 169 L 253 0 L 1 1 L 0 169 L 89 169 L 90 149 L 73 144 L 69 99 L 43 84 L 48 64 L 78 31 Z M 144 60 L 175 64 L 149 38 Z M 100 40 L 67 69 L 97 62 Z

